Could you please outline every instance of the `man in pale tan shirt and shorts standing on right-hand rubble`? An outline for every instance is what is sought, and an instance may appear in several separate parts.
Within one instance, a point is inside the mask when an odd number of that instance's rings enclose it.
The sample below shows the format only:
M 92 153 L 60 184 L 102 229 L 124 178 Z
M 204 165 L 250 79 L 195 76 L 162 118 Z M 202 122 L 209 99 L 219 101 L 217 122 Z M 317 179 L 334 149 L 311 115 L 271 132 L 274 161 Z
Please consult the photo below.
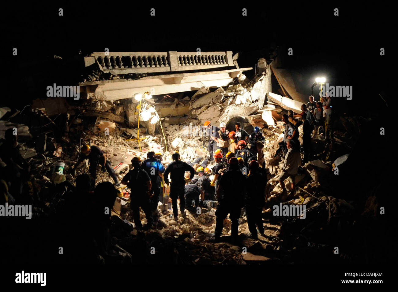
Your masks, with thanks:
M 281 185 L 282 191 L 285 192 L 285 179 L 289 178 L 291 183 L 291 189 L 294 190 L 295 178 L 298 171 L 298 165 L 301 162 L 300 152 L 296 149 L 294 141 L 287 142 L 287 153 L 285 155 L 285 161 L 283 161 L 282 172 L 279 174 L 279 184 Z M 292 145 L 293 144 L 293 145 Z

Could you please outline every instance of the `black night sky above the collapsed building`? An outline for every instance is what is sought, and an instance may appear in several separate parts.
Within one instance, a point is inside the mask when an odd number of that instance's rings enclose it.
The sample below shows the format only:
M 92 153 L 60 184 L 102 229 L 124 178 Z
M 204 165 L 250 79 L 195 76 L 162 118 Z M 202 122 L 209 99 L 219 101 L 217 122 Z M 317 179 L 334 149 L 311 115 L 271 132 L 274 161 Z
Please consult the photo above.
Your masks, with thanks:
M 242 6 L 242 7 L 241 7 Z M 150 8 L 156 16 L 150 16 Z M 64 16 L 58 9 L 64 9 Z M 242 8 L 248 15 L 242 16 Z M 339 8 L 339 16 L 334 16 Z M 241 52 L 240 67 L 254 67 L 279 46 L 285 68 L 302 74 L 309 92 L 317 76 L 335 85 L 353 85 L 355 93 L 380 92 L 388 74 L 391 35 L 386 7 L 347 4 L 203 4 L 184 2 L 139 6 L 107 2 L 83 6 L 51 4 L 11 9 L 6 20 L 6 50 L 18 48 L 7 66 L 25 60 L 103 51 Z M 8 24 L 8 25 L 7 25 Z M 12 25 L 10 25 L 12 24 Z M 380 56 L 380 48 L 387 56 Z M 293 56 L 287 56 L 293 48 Z M 372 80 L 370 82 L 370 80 Z M 364 82 L 365 81 L 365 82 Z

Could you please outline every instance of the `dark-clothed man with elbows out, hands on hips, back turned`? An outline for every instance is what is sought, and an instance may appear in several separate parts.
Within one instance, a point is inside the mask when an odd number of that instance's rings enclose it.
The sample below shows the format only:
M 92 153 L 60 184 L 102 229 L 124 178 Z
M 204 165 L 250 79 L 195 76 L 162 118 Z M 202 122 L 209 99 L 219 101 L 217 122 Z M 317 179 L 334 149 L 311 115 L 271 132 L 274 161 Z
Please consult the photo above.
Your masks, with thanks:
M 186 162 L 180 161 L 179 153 L 173 153 L 172 155 L 173 161 L 166 167 L 164 171 L 163 177 L 164 182 L 166 184 L 170 184 L 168 180 L 168 176 L 170 173 L 170 178 L 172 180 L 170 186 L 170 198 L 172 199 L 173 204 L 173 213 L 174 219 L 178 219 L 178 209 L 177 209 L 177 199 L 179 198 L 179 211 L 181 212 L 181 216 L 185 217 L 185 171 L 191 172 L 189 178 L 192 180 L 195 175 L 195 170 L 192 166 L 187 164 Z

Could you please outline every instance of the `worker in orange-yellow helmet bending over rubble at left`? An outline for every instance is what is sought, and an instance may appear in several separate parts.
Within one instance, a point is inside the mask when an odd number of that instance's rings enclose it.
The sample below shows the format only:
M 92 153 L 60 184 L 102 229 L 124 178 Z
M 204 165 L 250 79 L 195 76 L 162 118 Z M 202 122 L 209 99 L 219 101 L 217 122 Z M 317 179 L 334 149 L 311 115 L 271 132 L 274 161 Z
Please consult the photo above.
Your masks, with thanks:
M 113 178 L 115 183 L 113 184 L 114 186 L 118 186 L 120 184 L 119 180 L 117 179 L 117 176 L 115 174 L 115 171 L 113 170 L 111 166 L 111 162 L 106 159 L 105 153 L 100 149 L 100 147 L 97 146 L 90 146 L 90 145 L 83 145 L 82 149 L 82 156 L 79 157 L 78 161 L 76 162 L 76 167 L 79 166 L 79 164 L 84 160 L 88 159 L 88 162 L 90 163 L 90 166 L 88 168 L 88 171 L 90 172 L 90 175 L 93 179 L 93 185 L 95 185 L 96 181 L 96 176 L 97 176 L 97 166 L 100 164 L 102 166 L 101 170 L 109 173 L 109 175 Z

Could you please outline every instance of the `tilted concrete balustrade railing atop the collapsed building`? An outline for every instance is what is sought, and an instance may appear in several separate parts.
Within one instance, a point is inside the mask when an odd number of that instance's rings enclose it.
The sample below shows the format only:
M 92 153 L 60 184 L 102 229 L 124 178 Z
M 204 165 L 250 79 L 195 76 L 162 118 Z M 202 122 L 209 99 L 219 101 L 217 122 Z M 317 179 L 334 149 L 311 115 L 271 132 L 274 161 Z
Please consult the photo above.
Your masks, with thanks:
M 105 72 L 174 72 L 232 67 L 232 51 L 225 52 L 94 52 L 84 57 L 84 65 L 98 62 Z

